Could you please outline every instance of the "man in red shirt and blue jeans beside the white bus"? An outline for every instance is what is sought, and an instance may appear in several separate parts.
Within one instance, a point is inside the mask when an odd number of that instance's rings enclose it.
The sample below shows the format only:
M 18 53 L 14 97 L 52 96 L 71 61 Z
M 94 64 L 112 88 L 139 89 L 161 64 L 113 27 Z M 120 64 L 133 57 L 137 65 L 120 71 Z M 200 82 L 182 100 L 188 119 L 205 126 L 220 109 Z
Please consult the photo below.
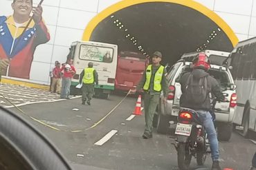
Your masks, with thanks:
M 68 96 L 70 94 L 71 78 L 75 75 L 75 67 L 72 65 L 73 60 L 68 59 L 65 65 L 62 66 L 63 77 L 62 77 L 62 92 L 60 93 L 60 98 L 70 99 Z

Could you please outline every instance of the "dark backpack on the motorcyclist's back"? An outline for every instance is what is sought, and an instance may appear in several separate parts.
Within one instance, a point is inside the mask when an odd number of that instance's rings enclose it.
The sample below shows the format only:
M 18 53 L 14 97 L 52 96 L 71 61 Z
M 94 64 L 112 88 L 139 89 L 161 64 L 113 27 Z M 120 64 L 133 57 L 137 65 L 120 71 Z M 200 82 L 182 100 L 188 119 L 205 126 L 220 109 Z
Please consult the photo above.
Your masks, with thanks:
M 193 78 L 193 75 L 188 76 L 188 81 L 185 86 L 185 98 L 192 104 L 200 105 L 204 103 L 208 96 L 207 93 L 207 77 Z

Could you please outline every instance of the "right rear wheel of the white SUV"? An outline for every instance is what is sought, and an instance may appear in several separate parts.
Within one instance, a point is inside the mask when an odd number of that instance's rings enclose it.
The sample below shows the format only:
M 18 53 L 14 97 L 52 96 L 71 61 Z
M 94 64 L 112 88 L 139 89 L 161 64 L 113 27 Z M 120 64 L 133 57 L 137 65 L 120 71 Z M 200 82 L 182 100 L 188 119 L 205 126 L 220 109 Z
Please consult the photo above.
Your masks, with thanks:
M 222 141 L 228 141 L 232 135 L 232 123 L 220 123 L 217 126 L 218 139 Z

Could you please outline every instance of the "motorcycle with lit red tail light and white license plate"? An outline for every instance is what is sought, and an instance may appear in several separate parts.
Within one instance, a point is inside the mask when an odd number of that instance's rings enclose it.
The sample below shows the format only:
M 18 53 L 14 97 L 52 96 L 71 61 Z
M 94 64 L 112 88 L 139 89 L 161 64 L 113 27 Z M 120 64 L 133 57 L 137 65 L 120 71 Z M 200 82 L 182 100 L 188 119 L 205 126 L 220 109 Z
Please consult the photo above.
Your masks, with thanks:
M 193 109 L 181 107 L 175 134 L 179 169 L 187 170 L 192 156 L 198 165 L 203 165 L 206 155 L 210 153 L 210 144 L 199 114 Z

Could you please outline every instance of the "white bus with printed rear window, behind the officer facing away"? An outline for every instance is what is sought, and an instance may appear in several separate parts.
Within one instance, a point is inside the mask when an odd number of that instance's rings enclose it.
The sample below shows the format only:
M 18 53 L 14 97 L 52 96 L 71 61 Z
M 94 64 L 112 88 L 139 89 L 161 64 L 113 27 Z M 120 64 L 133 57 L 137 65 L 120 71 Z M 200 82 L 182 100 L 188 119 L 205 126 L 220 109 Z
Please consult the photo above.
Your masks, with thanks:
M 89 62 L 98 72 L 98 85 L 95 96 L 108 98 L 115 87 L 116 67 L 118 63 L 118 45 L 93 41 L 75 41 L 71 44 L 71 59 L 77 70 L 71 83 L 71 94 L 80 94 L 75 86 L 79 83 L 80 73 Z

